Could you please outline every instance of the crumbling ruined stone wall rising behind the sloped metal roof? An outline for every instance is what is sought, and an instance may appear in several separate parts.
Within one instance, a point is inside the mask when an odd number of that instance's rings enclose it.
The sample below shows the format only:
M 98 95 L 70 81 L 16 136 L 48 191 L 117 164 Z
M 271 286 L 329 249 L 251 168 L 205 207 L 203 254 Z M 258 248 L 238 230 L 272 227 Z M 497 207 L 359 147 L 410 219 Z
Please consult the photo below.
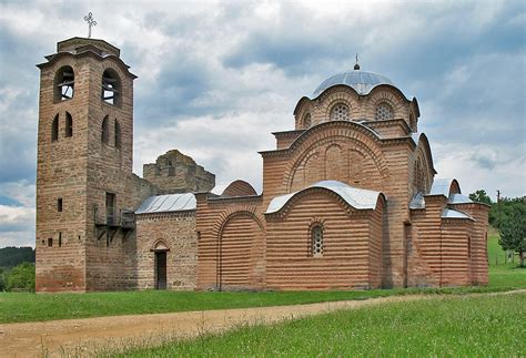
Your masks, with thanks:
M 143 165 L 143 176 L 160 188 L 161 194 L 209 192 L 215 186 L 215 175 L 206 172 L 190 156 L 178 150 Z

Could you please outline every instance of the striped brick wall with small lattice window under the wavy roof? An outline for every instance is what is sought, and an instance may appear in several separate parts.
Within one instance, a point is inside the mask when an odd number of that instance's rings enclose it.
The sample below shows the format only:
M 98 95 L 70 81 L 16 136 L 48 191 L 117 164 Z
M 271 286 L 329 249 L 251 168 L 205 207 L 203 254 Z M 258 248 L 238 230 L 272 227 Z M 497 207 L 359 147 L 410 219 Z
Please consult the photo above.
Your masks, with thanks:
M 267 288 L 380 287 L 381 221 L 372 211 L 353 209 L 336 194 L 318 188 L 291 201 L 283 213 L 266 216 Z M 311 229 L 317 224 L 323 227 L 320 256 L 312 252 Z

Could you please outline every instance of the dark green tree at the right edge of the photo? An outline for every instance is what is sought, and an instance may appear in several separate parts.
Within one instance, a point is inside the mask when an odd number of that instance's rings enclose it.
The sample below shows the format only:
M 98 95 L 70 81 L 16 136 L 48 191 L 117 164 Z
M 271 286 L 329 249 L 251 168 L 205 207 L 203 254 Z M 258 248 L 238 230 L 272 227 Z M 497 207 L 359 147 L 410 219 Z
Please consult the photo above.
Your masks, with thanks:
M 526 209 L 523 205 L 514 205 L 505 219 L 500 221 L 500 238 L 498 244 L 503 249 L 510 249 L 518 253 L 520 267 L 524 267 L 526 253 Z

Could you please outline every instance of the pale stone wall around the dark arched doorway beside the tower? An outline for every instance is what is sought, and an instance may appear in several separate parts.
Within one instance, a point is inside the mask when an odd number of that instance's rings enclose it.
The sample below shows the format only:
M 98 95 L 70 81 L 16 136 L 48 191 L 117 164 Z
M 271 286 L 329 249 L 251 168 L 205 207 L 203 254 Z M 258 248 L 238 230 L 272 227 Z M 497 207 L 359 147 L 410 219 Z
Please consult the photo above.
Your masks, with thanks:
M 195 212 L 136 215 L 138 288 L 155 287 L 158 245 L 166 252 L 166 288 L 193 290 L 196 286 L 198 234 Z

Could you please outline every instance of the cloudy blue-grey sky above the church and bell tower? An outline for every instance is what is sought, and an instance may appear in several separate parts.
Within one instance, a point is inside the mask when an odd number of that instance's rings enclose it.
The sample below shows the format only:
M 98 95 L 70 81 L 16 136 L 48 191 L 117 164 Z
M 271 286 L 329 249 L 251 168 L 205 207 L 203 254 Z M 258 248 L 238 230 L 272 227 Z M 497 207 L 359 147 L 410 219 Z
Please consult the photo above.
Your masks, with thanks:
M 362 70 L 416 96 L 436 177 L 526 194 L 523 1 L 0 1 L 0 247 L 34 246 L 39 70 L 58 41 L 121 49 L 134 172 L 171 149 L 261 191 L 271 132 L 326 78 Z

